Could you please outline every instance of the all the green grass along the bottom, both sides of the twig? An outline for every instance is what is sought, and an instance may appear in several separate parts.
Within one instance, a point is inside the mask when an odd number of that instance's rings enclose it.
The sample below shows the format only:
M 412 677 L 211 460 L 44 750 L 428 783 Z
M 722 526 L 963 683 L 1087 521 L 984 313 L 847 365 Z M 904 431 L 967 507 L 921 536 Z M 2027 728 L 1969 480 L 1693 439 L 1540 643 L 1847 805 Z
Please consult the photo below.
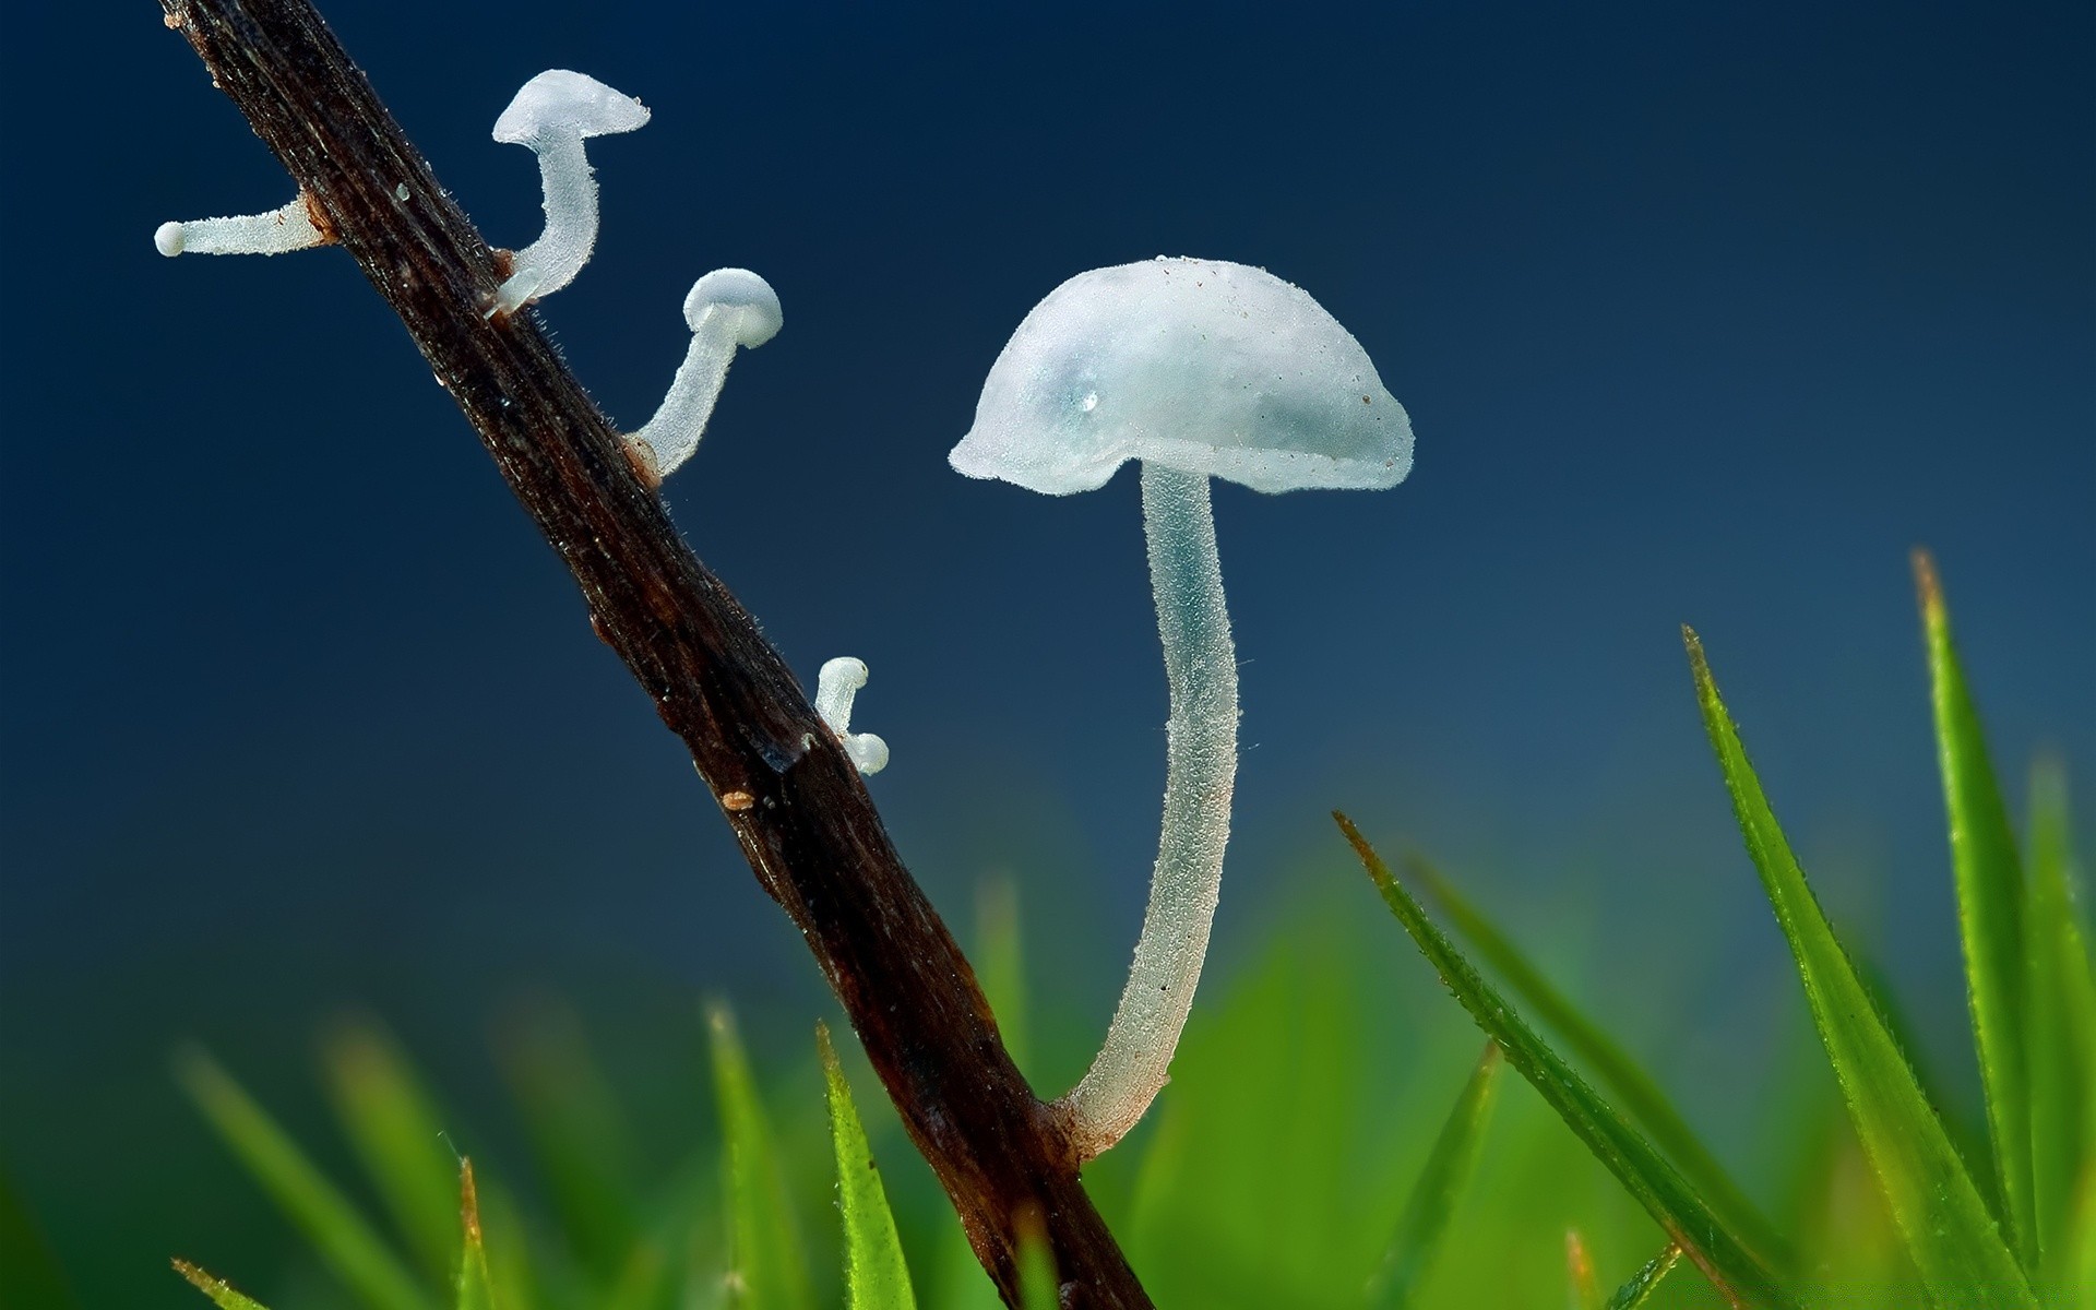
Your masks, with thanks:
M 2018 853 L 1941 587 L 1926 558 L 1916 566 L 1985 1147 L 1960 1153 L 1941 1090 L 1886 1019 L 1891 998 L 1821 914 L 1689 633 L 1719 773 L 1834 1086 L 1809 1058 L 1771 1061 L 1759 1092 L 1790 1107 L 1784 1140 L 1759 1142 L 1750 1163 L 1763 1167 L 1742 1172 L 1450 876 L 1409 855 L 1400 880 L 1341 817 L 1402 929 L 1484 1029 L 1484 1056 L 1446 1025 L 1415 1023 L 1409 1046 L 1392 1048 L 1385 1012 L 1417 1002 L 1390 991 L 1392 941 L 1371 945 L 1358 910 L 1274 933 L 1197 1010 L 1153 1121 L 1088 1176 L 1157 1304 L 2096 1310 L 2096 981 L 2065 778 L 2056 765 L 2035 773 Z M 1471 954 L 1406 882 L 1429 891 Z M 981 920 L 979 973 L 998 1012 L 1021 1017 L 1010 893 L 985 895 Z M 1631 975 L 1637 945 L 1618 943 Z M 1404 987 L 1425 989 L 1425 977 Z M 851 1094 L 870 1086 L 855 1050 L 847 1071 L 820 1033 L 820 1067 L 759 1071 L 725 1006 L 708 1029 L 721 1147 L 654 1170 L 667 1178 L 654 1186 L 635 1182 L 637 1144 L 578 1033 L 524 1033 L 511 1073 L 543 1211 L 509 1199 L 497 1182 L 507 1170 L 484 1170 L 476 1186 L 438 1130 L 436 1098 L 371 1021 L 329 1033 L 325 1082 L 384 1222 L 210 1056 L 184 1054 L 180 1077 L 331 1270 L 340 1300 L 319 1304 L 996 1306 L 935 1188 L 897 1188 L 891 1207 L 874 1163 L 899 1163 L 908 1144 L 878 1100 L 870 1144 Z M 1790 1176 L 1771 1178 L 1769 1157 L 1794 1161 Z M 1029 1308 L 1054 1302 L 1044 1260 L 1023 1260 Z M 214 1274 L 176 1270 L 218 1306 L 256 1306 Z

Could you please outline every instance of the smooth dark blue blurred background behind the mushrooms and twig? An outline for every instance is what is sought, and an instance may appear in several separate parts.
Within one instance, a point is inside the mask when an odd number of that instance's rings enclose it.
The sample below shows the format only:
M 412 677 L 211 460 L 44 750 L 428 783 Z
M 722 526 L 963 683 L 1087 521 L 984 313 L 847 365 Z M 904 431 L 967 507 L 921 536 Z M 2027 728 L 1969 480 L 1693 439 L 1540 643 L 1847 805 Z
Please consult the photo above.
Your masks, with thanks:
M 1633 1021 L 1788 996 L 1687 620 L 1962 1069 L 1905 551 L 2014 790 L 2039 748 L 2096 769 L 2088 4 L 325 8 L 497 243 L 539 231 L 488 140 L 528 75 L 654 109 L 593 143 L 604 235 L 545 323 L 637 425 L 700 272 L 778 287 L 671 507 L 796 669 L 870 662 L 903 851 L 960 918 L 1017 870 L 1082 1023 L 1163 776 L 1134 480 L 1050 501 L 945 451 L 1058 281 L 1199 254 L 1310 289 L 1419 434 L 1392 493 L 1218 490 L 1224 958 L 1350 876 L 1344 805 L 1593 941 Z M 151 1264 L 241 1193 L 168 1092 L 182 1035 L 293 1098 L 281 1052 L 350 998 L 467 1084 L 528 987 L 725 991 L 796 1044 L 813 968 L 350 260 L 153 254 L 289 195 L 184 42 L 23 6 L 0 59 L 0 1151 L 61 1247 L 109 1216 Z

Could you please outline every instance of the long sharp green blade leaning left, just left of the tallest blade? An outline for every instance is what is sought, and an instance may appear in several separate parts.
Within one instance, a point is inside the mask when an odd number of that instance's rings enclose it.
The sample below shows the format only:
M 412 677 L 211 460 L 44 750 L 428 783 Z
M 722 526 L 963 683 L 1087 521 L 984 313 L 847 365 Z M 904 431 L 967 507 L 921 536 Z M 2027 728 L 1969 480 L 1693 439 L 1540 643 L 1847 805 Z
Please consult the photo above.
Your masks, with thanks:
M 2016 1258 L 1966 1174 L 1943 1123 L 1928 1107 L 1905 1056 L 1842 954 L 1834 929 L 1805 882 L 1769 799 L 1754 778 L 1740 734 L 1719 700 L 1702 641 L 1683 629 L 1704 727 L 1725 773 L 1725 790 L 1746 836 L 1746 851 L 1796 958 L 1805 998 L 1819 1027 L 1849 1117 L 1863 1140 L 1893 1220 L 1922 1279 L 1953 1306 L 2035 1308 Z

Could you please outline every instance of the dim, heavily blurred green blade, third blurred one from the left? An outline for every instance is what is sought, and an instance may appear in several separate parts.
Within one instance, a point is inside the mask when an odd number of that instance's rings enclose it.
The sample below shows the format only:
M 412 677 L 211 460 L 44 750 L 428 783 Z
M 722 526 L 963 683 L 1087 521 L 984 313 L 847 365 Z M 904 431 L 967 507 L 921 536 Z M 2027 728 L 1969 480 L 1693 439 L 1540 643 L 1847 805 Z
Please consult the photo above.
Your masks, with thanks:
M 566 1006 L 522 1017 L 501 1054 L 560 1228 L 591 1279 L 610 1285 L 641 1237 L 633 1136 L 610 1079 Z

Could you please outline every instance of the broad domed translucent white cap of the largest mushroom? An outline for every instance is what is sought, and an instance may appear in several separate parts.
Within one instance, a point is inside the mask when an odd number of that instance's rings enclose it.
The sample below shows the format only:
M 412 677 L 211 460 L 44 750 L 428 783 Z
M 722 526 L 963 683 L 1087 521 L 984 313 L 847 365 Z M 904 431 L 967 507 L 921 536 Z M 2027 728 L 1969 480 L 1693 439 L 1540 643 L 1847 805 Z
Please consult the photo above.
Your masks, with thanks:
M 1025 316 L 947 461 L 1044 495 L 1128 459 L 1253 490 L 1381 488 L 1413 425 L 1369 354 L 1302 287 L 1222 260 L 1079 272 Z

